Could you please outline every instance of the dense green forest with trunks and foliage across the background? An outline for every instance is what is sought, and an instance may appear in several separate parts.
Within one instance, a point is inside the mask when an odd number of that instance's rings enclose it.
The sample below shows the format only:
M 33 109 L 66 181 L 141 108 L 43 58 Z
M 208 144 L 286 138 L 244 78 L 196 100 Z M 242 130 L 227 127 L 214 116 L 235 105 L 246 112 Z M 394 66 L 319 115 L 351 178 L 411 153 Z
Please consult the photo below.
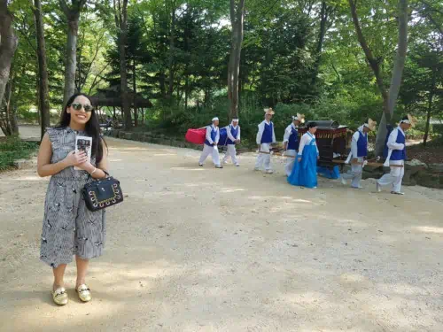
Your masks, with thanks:
M 0 0 L 0 127 L 57 121 L 75 91 L 127 130 L 182 135 L 262 108 L 355 128 L 443 119 L 440 0 Z M 441 128 L 441 126 L 440 126 Z M 136 129 L 134 129 L 136 130 Z M 278 138 L 278 137 L 277 137 Z

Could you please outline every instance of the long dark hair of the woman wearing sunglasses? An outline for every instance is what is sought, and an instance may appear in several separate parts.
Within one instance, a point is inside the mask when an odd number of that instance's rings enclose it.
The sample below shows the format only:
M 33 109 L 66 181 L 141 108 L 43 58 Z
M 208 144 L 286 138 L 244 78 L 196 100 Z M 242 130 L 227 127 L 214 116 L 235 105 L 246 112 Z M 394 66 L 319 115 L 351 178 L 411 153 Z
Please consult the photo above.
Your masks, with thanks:
M 71 123 L 71 114 L 67 112 L 67 108 L 71 106 L 71 104 L 74 103 L 75 98 L 79 96 L 88 98 L 90 102 L 89 96 L 83 93 L 76 93 L 71 96 L 67 100 L 63 112 L 61 113 L 60 123 L 57 127 L 69 127 L 69 124 Z M 86 122 L 85 132 L 92 137 L 91 156 L 96 157 L 96 164 L 98 164 L 103 158 L 102 141 L 103 143 L 105 143 L 105 140 L 100 136 L 100 124 L 98 123 L 98 118 L 95 110 L 92 110 L 90 114 L 90 119 L 88 122 Z

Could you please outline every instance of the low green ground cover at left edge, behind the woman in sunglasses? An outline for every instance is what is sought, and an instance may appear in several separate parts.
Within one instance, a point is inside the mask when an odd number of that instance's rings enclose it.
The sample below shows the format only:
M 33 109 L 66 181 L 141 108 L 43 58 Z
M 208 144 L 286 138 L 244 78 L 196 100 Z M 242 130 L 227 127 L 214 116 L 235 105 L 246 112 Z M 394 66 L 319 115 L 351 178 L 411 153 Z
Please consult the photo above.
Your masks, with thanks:
M 17 136 L 0 140 L 0 172 L 14 168 L 14 160 L 29 158 L 37 148 L 37 143 L 22 141 Z

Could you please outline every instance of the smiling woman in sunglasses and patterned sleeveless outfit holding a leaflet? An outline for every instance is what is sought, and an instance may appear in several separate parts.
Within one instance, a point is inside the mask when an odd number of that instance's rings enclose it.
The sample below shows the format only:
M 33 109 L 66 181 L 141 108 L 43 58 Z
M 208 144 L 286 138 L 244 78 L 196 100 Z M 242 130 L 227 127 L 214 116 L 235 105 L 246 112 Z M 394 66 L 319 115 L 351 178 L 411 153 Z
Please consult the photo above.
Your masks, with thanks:
M 75 290 L 83 302 L 90 301 L 85 281 L 89 259 L 100 256 L 105 243 L 105 210 L 90 212 L 82 197 L 86 182 L 106 177 L 107 148 L 99 133 L 89 97 L 76 94 L 67 101 L 58 127 L 48 128 L 38 152 L 37 173 L 51 176 L 44 204 L 40 259 L 52 267 L 51 294 L 57 305 L 68 302 L 63 277 L 74 255 Z M 75 153 L 77 135 L 92 137 L 90 161 L 84 151 Z

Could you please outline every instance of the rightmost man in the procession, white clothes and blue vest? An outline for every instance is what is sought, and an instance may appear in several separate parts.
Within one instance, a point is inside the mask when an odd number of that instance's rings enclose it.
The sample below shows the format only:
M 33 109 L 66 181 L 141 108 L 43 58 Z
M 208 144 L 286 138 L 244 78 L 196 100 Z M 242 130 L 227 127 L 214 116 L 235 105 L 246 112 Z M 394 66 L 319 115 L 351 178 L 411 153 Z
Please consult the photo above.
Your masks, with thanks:
M 416 125 L 416 119 L 410 114 L 400 120 L 399 127 L 392 130 L 386 143 L 388 155 L 384 166 L 390 166 L 391 172 L 383 175 L 377 181 L 377 192 L 381 191 L 381 186 L 392 185 L 391 194 L 404 195 L 401 192 L 401 181 L 405 174 L 406 160 L 406 135 L 405 132 Z

